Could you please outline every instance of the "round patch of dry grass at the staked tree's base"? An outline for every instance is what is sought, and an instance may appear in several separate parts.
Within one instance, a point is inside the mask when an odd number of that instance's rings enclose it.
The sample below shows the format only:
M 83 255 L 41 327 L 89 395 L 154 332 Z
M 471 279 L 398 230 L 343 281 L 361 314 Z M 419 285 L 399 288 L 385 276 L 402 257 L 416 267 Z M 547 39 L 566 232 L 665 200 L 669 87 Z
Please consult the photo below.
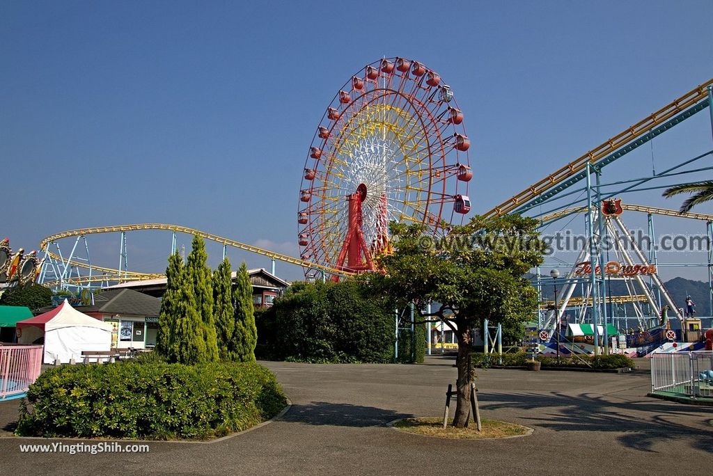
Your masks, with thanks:
M 394 423 L 396 430 L 414 435 L 433 436 L 436 438 L 451 438 L 453 440 L 490 440 L 494 438 L 513 438 L 533 433 L 532 428 L 500 420 L 482 420 L 482 430 L 478 431 L 476 423 L 469 423 L 467 428 L 456 428 L 448 425 L 443 428 L 443 418 L 405 418 Z

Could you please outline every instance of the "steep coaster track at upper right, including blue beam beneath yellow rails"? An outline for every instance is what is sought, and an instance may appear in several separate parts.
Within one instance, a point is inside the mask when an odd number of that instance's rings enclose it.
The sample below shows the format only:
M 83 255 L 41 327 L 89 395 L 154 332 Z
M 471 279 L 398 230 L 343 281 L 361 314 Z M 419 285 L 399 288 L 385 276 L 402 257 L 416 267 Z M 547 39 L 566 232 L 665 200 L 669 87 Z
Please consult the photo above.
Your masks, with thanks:
M 690 90 L 672 103 L 665 105 L 647 118 L 640 120 L 638 123 L 610 138 L 597 148 L 590 150 L 585 155 L 578 157 L 576 160 L 568 163 L 568 165 L 560 168 L 560 170 L 543 178 L 543 180 L 530 185 L 530 187 L 517 195 L 513 195 L 513 197 L 501 203 L 501 205 L 485 212 L 483 216 L 495 217 L 511 213 L 516 208 L 526 205 L 531 200 L 535 200 L 543 195 L 543 193 L 555 189 L 555 187 L 559 186 L 564 188 L 571 185 L 570 182 L 576 182 L 579 178 L 577 175 L 585 170 L 588 163 L 596 165 L 598 162 L 606 161 L 607 157 L 610 160 L 616 160 L 621 155 L 629 152 L 629 150 L 620 150 L 624 148 L 625 145 L 634 143 L 631 147 L 631 149 L 633 149 L 645 143 L 646 140 L 642 140 L 643 138 L 641 138 L 641 136 L 647 133 L 652 134 L 652 129 L 660 128 L 656 134 L 661 133 L 663 130 L 679 122 L 677 118 L 679 115 L 685 115 L 687 110 L 689 115 L 698 112 L 698 110 L 702 110 L 708 105 L 707 87 L 709 85 L 713 85 L 713 79 L 709 79 L 697 88 Z M 691 108 L 691 110 L 689 110 L 689 108 Z M 685 115 L 685 117 L 680 120 L 686 117 L 688 117 L 688 115 Z M 637 139 L 639 139 L 640 143 L 635 143 Z

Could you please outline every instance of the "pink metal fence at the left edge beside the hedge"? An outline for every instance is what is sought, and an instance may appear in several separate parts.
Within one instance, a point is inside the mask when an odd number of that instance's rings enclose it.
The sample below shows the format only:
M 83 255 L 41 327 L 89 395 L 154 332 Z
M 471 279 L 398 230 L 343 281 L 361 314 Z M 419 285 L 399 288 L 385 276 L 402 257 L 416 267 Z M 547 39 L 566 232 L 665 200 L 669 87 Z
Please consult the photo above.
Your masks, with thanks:
M 42 346 L 0 346 L 0 400 L 25 393 L 41 366 Z

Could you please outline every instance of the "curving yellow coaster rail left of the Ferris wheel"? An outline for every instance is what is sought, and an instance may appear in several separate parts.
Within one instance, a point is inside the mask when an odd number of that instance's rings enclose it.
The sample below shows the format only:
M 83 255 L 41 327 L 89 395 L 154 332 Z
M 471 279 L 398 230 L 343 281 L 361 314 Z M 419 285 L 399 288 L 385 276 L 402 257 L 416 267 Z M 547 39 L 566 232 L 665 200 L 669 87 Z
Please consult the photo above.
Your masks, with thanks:
M 307 268 L 311 268 L 311 269 L 318 269 L 319 271 L 326 271 L 329 274 L 338 274 L 341 276 L 352 274 L 352 273 L 342 271 L 339 269 L 327 267 L 322 264 L 312 263 L 312 262 L 306 261 L 304 259 L 290 257 L 287 254 L 271 252 L 270 250 L 267 250 L 267 249 L 255 247 L 252 244 L 245 244 L 245 243 L 237 242 L 237 241 L 235 241 L 235 239 L 220 237 L 217 234 L 203 232 L 200 229 L 183 227 L 178 224 L 137 223 L 137 224 L 113 225 L 113 226 L 108 226 L 108 227 L 71 229 L 66 232 L 59 232 L 59 233 L 51 234 L 50 236 L 43 238 L 40 242 L 40 249 L 43 252 L 45 252 L 48 257 L 51 257 L 52 259 L 56 259 L 60 262 L 65 262 L 68 264 L 68 266 L 88 268 L 89 264 L 87 264 L 86 262 L 77 262 L 77 261 L 67 262 L 66 260 L 61 259 L 61 257 L 59 257 L 57 254 L 54 254 L 53 252 L 49 251 L 49 244 L 56 242 L 59 239 L 70 238 L 70 237 L 82 237 L 82 236 L 86 236 L 88 234 L 135 232 L 138 230 L 148 230 L 148 229 L 163 230 L 163 231 L 175 232 L 175 233 L 193 234 L 193 235 L 197 235 L 203 239 L 208 239 L 212 242 L 217 242 L 217 243 L 223 244 L 228 247 L 233 247 L 233 248 L 237 248 L 237 249 L 242 249 L 247 252 L 261 254 L 262 256 L 268 257 L 270 259 L 277 259 L 279 261 L 286 262 L 289 264 L 296 264 L 297 266 L 307 267 Z M 118 269 L 98 267 L 98 266 L 94 266 L 94 265 L 91 266 L 91 269 L 93 271 L 94 270 L 101 271 L 103 273 L 111 275 L 111 277 L 109 277 L 109 276 L 92 276 L 91 281 L 94 281 L 94 282 L 107 281 L 107 279 L 109 281 L 135 281 L 135 280 L 143 280 L 143 279 L 155 279 L 155 278 L 160 278 L 160 277 L 164 276 L 163 273 L 140 273 L 138 271 L 124 271 L 124 270 L 120 271 Z M 74 277 L 74 278 L 66 278 L 66 279 L 63 279 L 62 282 L 67 283 L 67 284 L 73 284 L 73 281 L 88 282 L 89 279 L 88 279 L 88 276 L 81 276 L 81 277 Z M 51 283 L 46 283 L 46 285 L 51 286 Z

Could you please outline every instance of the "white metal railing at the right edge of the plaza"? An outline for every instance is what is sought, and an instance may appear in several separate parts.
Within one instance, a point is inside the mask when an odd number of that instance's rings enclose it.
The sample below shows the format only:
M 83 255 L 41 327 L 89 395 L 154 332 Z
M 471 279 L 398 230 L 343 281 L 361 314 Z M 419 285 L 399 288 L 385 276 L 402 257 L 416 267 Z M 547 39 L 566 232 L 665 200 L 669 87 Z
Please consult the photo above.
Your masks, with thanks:
M 651 393 L 713 397 L 713 351 L 651 354 Z

